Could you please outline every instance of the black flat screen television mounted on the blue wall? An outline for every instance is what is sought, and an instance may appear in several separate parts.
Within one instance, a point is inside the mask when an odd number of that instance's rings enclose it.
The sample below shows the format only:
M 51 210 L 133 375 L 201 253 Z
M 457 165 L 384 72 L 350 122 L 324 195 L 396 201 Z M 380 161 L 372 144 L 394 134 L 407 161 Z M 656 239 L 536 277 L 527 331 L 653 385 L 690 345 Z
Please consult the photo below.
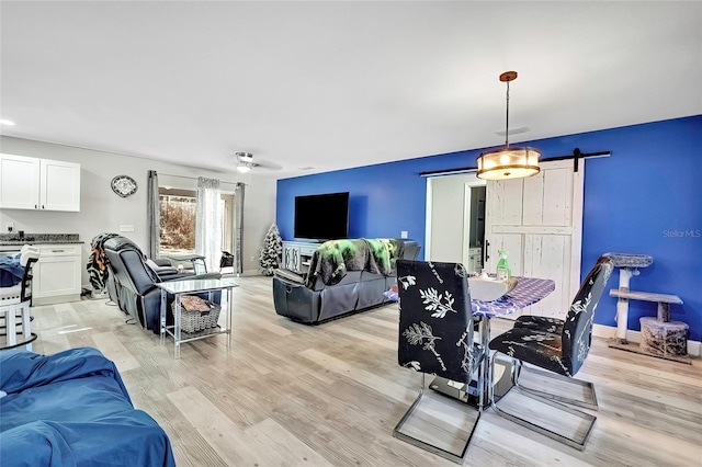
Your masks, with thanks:
M 349 192 L 295 196 L 295 238 L 336 240 L 349 236 Z

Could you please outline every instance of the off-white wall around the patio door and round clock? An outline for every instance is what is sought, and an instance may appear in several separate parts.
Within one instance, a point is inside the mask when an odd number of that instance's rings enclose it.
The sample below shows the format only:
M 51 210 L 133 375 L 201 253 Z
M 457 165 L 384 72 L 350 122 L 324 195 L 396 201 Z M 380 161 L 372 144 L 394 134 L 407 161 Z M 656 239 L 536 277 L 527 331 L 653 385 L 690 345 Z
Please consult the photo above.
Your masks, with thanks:
M 246 183 L 244 206 L 244 271 L 258 274 L 258 251 L 263 243 L 268 228 L 275 221 L 276 182 L 252 174 L 237 180 L 237 173 L 218 172 L 178 166 L 169 162 L 103 152 L 31 139 L 0 137 L 0 152 L 80 163 L 80 212 L 52 213 L 38 210 L 2 209 L 0 228 L 4 231 L 8 221 L 14 223 L 14 230 L 27 234 L 78 234 L 82 246 L 83 264 L 90 254 L 90 241 L 101 232 L 120 232 L 121 225 L 133 225 L 133 232 L 124 232 L 146 250 L 146 175 L 148 170 L 159 173 L 173 187 L 192 189 L 196 182 L 188 178 L 208 176 L 223 182 Z M 193 158 L 194 159 L 194 158 Z M 234 168 L 233 168 L 234 169 Z M 129 175 L 138 184 L 137 192 L 126 198 L 117 196 L 110 187 L 115 175 Z M 223 190 L 233 185 L 223 184 Z M 88 284 L 88 272 L 83 269 L 83 284 Z

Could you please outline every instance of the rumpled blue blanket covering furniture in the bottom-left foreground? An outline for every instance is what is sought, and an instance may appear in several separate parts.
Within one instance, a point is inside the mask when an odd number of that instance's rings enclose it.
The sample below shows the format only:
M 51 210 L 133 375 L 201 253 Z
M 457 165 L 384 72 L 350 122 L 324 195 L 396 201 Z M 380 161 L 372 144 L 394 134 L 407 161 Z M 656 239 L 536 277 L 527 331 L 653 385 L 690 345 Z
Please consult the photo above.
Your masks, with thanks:
M 95 349 L 0 353 L 0 389 L 3 467 L 176 465 L 163 430 Z

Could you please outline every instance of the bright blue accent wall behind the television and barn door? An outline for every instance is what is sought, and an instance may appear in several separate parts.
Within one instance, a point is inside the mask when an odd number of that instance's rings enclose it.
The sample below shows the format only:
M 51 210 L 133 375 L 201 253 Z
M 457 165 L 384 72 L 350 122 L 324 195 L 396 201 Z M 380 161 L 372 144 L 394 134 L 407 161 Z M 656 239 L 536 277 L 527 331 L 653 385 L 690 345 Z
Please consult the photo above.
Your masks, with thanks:
M 650 254 L 654 264 L 633 276 L 633 291 L 678 295 L 673 320 L 702 339 L 702 115 L 524 143 L 543 160 L 610 150 L 589 159 L 585 178 L 584 277 L 608 251 Z M 521 145 L 521 144 L 520 144 Z M 428 156 L 278 182 L 278 226 L 293 236 L 296 195 L 350 192 L 349 237 L 409 237 L 424 244 L 427 182 L 419 173 L 475 166 L 480 149 Z M 320 213 L 320 221 L 324 214 Z M 619 286 L 619 271 L 609 288 Z M 607 292 L 605 292 L 607 294 Z M 616 326 L 616 299 L 603 296 L 596 322 Z M 630 301 L 629 329 L 656 316 L 656 304 Z

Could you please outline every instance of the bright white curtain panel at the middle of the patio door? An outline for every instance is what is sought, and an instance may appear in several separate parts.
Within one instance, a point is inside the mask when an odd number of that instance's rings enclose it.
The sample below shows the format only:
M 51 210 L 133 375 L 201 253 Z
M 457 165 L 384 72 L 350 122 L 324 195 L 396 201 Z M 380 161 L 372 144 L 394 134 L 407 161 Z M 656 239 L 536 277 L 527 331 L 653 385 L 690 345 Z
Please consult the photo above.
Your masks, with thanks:
M 219 270 L 222 257 L 222 210 L 219 180 L 197 178 L 195 253 L 205 257 L 207 272 Z

